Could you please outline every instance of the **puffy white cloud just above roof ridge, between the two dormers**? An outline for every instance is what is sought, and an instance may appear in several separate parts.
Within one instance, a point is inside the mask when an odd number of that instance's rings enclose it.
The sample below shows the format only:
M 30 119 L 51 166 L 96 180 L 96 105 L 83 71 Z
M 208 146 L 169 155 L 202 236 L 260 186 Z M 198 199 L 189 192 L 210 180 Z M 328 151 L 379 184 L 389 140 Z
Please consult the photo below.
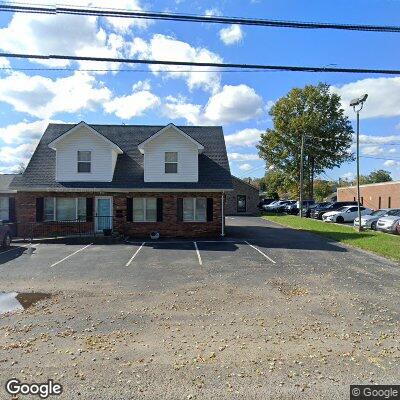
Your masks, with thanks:
M 131 95 L 113 98 L 104 104 L 104 109 L 108 114 L 114 113 L 122 119 L 143 115 L 146 110 L 160 104 L 160 99 L 151 93 L 150 89 L 149 82 L 139 81 L 132 86 Z

